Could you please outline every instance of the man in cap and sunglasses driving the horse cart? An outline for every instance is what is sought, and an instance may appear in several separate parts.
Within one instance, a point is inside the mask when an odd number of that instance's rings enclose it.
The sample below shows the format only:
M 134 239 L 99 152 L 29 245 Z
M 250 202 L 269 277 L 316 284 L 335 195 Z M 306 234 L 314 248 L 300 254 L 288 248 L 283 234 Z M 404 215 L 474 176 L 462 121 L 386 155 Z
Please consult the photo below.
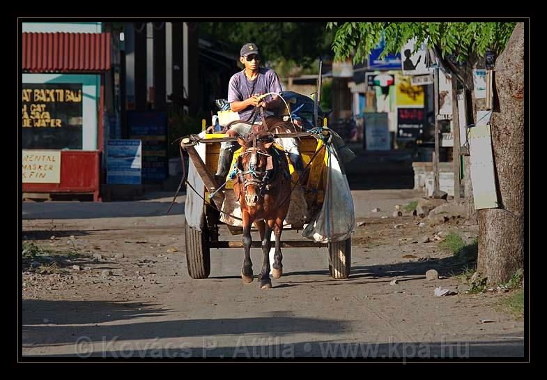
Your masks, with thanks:
M 281 93 L 283 91 L 281 84 L 279 83 L 279 77 L 277 77 L 275 71 L 270 68 L 261 68 L 259 66 L 259 48 L 254 43 L 246 43 L 243 45 L 240 51 L 239 60 L 245 66 L 245 69 L 234 74 L 230 78 L 228 86 L 228 102 L 230 103 L 230 109 L 233 112 L 238 112 L 241 121 L 261 123 L 261 112 L 259 112 L 259 110 L 254 112 L 254 109 L 257 106 L 263 107 L 268 126 L 271 126 L 273 123 L 281 122 L 282 120 L 273 116 L 274 113 L 271 111 L 272 109 L 279 107 L 279 105 L 284 104 L 279 96 L 270 95 L 263 99 L 259 99 L 259 96 L 265 93 Z M 286 126 L 285 128 L 289 127 Z M 247 123 L 233 123 L 226 132 L 226 136 L 235 137 L 238 134 L 244 135 L 245 133 L 250 132 L 251 129 L 252 127 Z M 304 163 L 295 139 L 282 140 L 285 141 L 281 141 L 280 143 L 289 153 L 289 159 L 291 160 L 293 167 L 295 167 L 295 170 L 299 174 L 302 173 Z M 215 174 L 215 178 L 220 184 L 226 181 L 226 175 L 230 169 L 233 152 L 236 151 L 236 149 L 238 149 L 237 142 L 223 142 L 220 146 L 218 168 L 217 173 Z

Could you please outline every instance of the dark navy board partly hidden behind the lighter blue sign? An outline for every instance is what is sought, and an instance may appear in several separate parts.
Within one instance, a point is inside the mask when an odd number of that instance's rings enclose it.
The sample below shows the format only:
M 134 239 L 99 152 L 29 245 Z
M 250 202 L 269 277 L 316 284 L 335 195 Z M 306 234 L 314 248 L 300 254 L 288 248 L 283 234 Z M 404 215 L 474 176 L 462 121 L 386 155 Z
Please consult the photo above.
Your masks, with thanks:
M 167 167 L 167 115 L 160 111 L 128 112 L 130 139 L 142 142 L 142 179 L 163 181 Z

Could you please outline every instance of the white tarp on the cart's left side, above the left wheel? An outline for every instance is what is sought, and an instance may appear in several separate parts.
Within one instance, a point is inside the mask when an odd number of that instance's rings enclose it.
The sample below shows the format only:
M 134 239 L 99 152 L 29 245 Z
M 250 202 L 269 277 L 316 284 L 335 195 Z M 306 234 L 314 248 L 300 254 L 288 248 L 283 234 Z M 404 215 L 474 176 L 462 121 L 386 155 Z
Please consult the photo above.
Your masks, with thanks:
M 199 137 L 204 138 L 205 132 L 201 132 Z M 199 153 L 201 160 L 205 162 L 205 144 L 196 144 L 195 149 Z M 199 176 L 196 167 L 192 163 L 192 160 L 188 160 L 188 183 L 192 185 L 197 192 L 203 197 L 203 181 Z M 190 187 L 186 189 L 186 202 L 184 204 L 184 215 L 186 222 L 190 227 L 201 231 L 201 217 L 203 215 L 203 199 L 199 197 Z

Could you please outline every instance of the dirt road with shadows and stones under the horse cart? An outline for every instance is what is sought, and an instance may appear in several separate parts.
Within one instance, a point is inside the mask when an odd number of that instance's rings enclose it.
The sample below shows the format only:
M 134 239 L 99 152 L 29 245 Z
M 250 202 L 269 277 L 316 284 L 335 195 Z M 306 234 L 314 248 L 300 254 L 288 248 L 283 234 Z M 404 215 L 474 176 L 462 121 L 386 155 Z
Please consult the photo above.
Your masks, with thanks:
M 496 307 L 504 294 L 465 294 L 455 276 L 461 264 L 438 241 L 419 243 L 439 231 L 455 231 L 471 241 L 477 226 L 465 226 L 463 220 L 420 226 L 412 216 L 392 217 L 395 204 L 421 195 L 413 190 L 353 191 L 356 220 L 365 224 L 356 227 L 352 238 L 350 278 L 328 276 L 325 248 L 284 249 L 286 273 L 272 280 L 268 290 L 256 280 L 242 284 L 238 249 L 212 250 L 210 278 L 190 278 L 184 196 L 169 215 L 171 193 L 139 202 L 24 203 L 26 247 L 35 243 L 59 253 L 49 254 L 46 264 L 24 260 L 23 354 L 523 356 L 523 321 Z M 376 207 L 381 211 L 372 213 Z M 222 237 L 228 237 L 227 231 Z M 286 231 L 283 237 L 299 235 Z M 256 275 L 261 250 L 252 250 L 252 260 Z M 431 268 L 439 280 L 426 280 Z M 392 280 L 398 282 L 390 284 Z M 459 294 L 436 297 L 438 286 Z

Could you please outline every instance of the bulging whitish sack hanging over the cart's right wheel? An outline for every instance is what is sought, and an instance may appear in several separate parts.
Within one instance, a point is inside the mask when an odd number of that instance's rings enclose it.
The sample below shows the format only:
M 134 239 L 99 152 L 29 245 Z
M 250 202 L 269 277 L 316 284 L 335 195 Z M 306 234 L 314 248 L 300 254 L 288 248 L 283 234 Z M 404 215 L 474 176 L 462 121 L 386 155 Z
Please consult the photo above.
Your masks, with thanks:
M 302 231 L 302 236 L 318 243 L 344 241 L 355 229 L 355 211 L 348 178 L 342 172 L 337 151 L 328 143 L 327 185 L 323 207 Z

